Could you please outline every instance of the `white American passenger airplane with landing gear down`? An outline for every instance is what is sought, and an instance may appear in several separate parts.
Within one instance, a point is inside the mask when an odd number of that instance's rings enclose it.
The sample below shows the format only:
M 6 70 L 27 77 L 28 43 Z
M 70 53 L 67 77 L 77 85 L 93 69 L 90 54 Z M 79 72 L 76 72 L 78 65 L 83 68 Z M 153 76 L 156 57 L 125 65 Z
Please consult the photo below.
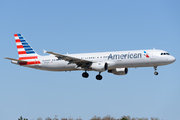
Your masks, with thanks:
M 59 54 L 52 51 L 48 56 L 37 54 L 21 34 L 14 34 L 19 58 L 11 63 L 46 71 L 75 71 L 83 70 L 82 77 L 88 78 L 87 71 L 97 71 L 97 80 L 102 80 L 101 72 L 107 71 L 114 75 L 126 75 L 128 68 L 154 67 L 154 74 L 158 75 L 157 67 L 175 62 L 175 57 L 168 52 L 158 49 L 97 52 L 82 54 Z

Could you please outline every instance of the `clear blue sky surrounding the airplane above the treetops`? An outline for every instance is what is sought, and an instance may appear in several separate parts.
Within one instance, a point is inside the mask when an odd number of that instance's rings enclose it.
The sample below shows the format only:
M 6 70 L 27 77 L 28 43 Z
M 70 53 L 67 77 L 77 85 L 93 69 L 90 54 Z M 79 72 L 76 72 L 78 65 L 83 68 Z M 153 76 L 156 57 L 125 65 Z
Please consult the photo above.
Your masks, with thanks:
M 120 118 L 180 115 L 180 1 L 0 1 L 0 119 L 23 116 L 83 120 L 94 115 Z M 47 72 L 11 64 L 18 58 L 15 33 L 21 33 L 37 53 L 61 54 L 157 48 L 176 62 L 154 69 L 130 68 L 125 76 L 83 71 Z

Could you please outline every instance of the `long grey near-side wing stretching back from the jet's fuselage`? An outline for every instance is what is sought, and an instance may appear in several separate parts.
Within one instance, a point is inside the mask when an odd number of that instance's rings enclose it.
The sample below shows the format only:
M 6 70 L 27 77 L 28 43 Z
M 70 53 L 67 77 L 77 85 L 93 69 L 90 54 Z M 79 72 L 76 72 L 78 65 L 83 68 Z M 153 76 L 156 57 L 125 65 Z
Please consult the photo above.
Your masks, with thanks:
M 51 51 L 44 51 L 44 52 L 49 53 L 49 54 L 53 54 L 58 59 L 68 61 L 69 62 L 68 64 L 72 64 L 72 63 L 77 64 L 77 67 L 84 68 L 84 67 L 89 67 L 92 64 L 92 61 L 89 61 L 89 60 L 83 60 L 83 59 L 80 59 L 80 58 L 75 58 L 75 57 L 71 57 L 71 56 L 68 56 L 68 55 L 62 55 L 62 54 L 54 53 L 54 52 L 51 52 Z

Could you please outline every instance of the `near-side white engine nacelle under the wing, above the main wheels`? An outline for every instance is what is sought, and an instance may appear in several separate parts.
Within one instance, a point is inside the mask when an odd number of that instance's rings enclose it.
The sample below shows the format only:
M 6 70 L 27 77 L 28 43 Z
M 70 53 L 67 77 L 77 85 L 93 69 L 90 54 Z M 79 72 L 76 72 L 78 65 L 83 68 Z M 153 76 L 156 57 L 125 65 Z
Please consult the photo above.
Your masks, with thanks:
M 104 62 L 97 62 L 97 63 L 92 63 L 91 69 L 99 72 L 106 71 L 108 69 L 108 64 Z

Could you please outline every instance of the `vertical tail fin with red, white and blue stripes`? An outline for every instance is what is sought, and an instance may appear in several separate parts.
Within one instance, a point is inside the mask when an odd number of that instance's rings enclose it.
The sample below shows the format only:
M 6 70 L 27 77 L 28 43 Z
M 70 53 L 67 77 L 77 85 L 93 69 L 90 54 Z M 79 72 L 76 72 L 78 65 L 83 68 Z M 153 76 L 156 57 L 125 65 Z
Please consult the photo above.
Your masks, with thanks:
M 14 34 L 19 58 L 39 56 L 21 34 Z

